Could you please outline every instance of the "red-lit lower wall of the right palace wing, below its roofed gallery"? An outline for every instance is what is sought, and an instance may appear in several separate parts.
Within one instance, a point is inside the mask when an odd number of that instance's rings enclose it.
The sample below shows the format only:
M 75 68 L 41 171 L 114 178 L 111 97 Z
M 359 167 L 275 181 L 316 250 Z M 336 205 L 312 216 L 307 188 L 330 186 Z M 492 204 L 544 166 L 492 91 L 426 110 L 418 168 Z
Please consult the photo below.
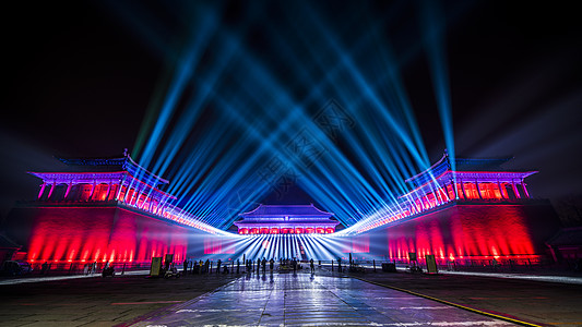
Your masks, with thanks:
M 393 259 L 406 259 L 408 252 L 440 261 L 527 258 L 546 255 L 544 242 L 557 229 L 549 204 L 462 204 L 369 235 L 371 252 Z

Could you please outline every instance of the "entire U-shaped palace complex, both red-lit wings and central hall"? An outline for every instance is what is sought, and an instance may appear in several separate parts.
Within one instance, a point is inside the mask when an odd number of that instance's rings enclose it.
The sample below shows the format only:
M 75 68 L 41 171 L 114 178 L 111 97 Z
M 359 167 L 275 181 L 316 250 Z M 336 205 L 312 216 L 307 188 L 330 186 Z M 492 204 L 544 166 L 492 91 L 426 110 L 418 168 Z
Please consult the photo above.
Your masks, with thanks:
M 221 230 L 161 191 L 169 181 L 129 156 L 60 159 L 67 171 L 29 172 L 41 182 L 34 201 L 13 209 L 10 229 L 32 263 L 130 263 L 152 257 L 407 261 L 541 261 L 558 228 L 547 201 L 532 198 L 526 178 L 502 159 L 454 159 L 444 154 L 406 182 L 391 206 L 341 230 L 333 213 L 307 205 L 259 204 L 238 214 L 236 231 Z M 551 218 L 551 219 L 549 219 Z M 25 226 L 26 228 L 22 228 Z M 511 233 L 507 231 L 511 230 Z M 202 245 L 202 246 L 200 246 Z

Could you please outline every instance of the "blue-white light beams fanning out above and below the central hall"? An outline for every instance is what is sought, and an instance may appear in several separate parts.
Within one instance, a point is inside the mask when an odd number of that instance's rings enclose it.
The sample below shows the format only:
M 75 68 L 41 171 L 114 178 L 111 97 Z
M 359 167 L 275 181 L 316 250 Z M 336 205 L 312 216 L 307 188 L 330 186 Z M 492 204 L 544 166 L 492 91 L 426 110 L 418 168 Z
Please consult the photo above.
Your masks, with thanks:
M 415 118 L 427 108 L 413 108 L 402 77 L 424 50 L 454 158 L 446 22 L 433 3 L 187 2 L 150 24 L 133 14 L 144 4 L 110 5 L 168 66 L 133 157 L 204 223 L 228 229 L 266 195 L 285 196 L 285 182 L 347 228 L 394 215 L 404 180 L 430 162 Z M 420 28 L 399 34 L 389 17 L 411 12 Z M 333 252 L 329 237 L 253 238 L 252 256 Z

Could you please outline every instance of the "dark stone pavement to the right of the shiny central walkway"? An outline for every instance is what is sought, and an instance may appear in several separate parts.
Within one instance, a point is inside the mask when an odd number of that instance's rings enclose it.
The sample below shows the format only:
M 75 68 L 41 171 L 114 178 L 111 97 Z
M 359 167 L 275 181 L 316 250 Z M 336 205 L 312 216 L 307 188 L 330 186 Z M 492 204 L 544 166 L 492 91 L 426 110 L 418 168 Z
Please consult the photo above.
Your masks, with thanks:
M 582 284 L 571 280 L 562 283 L 523 276 L 380 271 L 352 276 L 534 324 L 582 326 Z

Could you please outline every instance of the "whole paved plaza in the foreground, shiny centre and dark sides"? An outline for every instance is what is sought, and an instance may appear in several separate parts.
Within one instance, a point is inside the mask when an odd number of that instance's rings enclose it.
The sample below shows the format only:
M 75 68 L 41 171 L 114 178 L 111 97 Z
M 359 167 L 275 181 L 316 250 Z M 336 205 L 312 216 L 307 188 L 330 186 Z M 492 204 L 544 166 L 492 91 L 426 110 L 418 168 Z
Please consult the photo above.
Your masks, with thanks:
M 180 279 L 116 276 L 106 279 L 94 277 L 1 284 L 0 326 L 337 326 L 338 322 L 359 326 L 358 322 L 366 320 L 361 320 L 363 317 L 372 322 L 380 320 L 387 326 L 405 326 L 397 325 L 405 316 L 417 315 L 419 318 L 437 319 L 438 315 L 428 314 L 443 313 L 449 316 L 448 313 L 453 312 L 447 304 L 400 291 L 384 292 L 378 284 L 533 324 L 582 326 L 581 284 L 380 271 L 353 275 L 377 283 L 369 284 L 351 281 L 352 278 L 346 277 L 337 272 L 318 270 L 314 276 L 301 272 L 297 278 L 288 274 L 285 277 L 278 276 L 276 272 L 273 276 L 268 272 L 265 276 L 245 277 L 236 274 L 189 275 Z M 214 292 L 207 293 L 211 291 Z M 203 294 L 205 295 L 201 296 Z M 264 300 L 268 298 L 269 301 Z M 396 302 L 391 302 L 393 300 L 390 299 L 415 301 L 417 304 L 396 305 Z M 460 311 L 454 312 L 455 315 L 464 316 Z M 178 313 L 179 318 L 185 319 L 181 323 L 176 318 Z M 241 319 L 244 316 L 249 318 Z M 301 317 L 313 318 L 306 320 Z M 335 319 L 332 325 L 325 323 L 330 322 L 330 317 Z M 471 319 L 477 323 L 468 323 Z M 471 319 L 467 318 L 465 323 L 460 320 L 459 326 L 509 324 L 495 323 L 486 316 Z M 411 324 L 425 324 L 418 322 L 420 320 L 413 319 Z M 456 325 L 450 319 L 440 322 L 441 325 Z

